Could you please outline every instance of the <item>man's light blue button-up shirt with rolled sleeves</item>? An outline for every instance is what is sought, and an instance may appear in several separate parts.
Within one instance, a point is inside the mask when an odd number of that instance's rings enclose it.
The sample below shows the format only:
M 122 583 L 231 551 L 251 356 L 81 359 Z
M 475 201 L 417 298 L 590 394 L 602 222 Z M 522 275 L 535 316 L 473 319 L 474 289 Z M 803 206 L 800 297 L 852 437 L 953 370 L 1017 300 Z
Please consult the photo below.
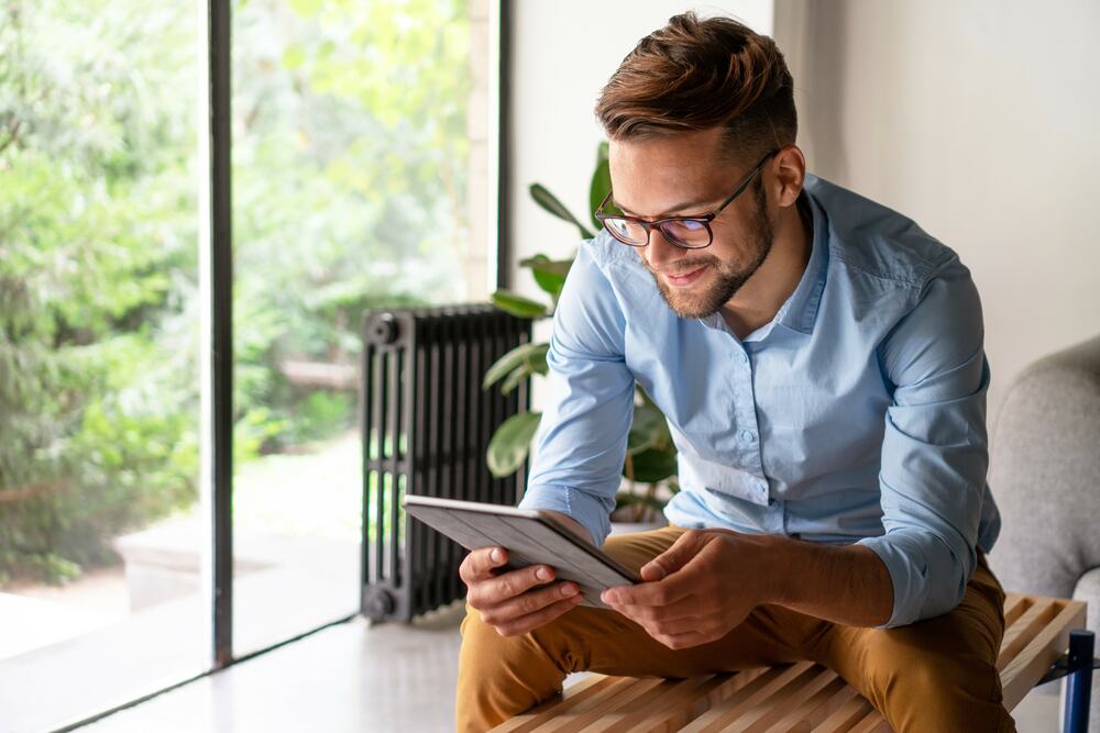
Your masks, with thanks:
M 721 315 L 673 313 L 606 232 L 581 246 L 520 506 L 606 538 L 638 380 L 680 452 L 671 523 L 867 545 L 893 581 L 884 626 L 904 625 L 959 603 L 1000 529 L 981 304 L 958 256 L 911 220 L 814 176 L 805 192 L 806 270 L 744 340 Z

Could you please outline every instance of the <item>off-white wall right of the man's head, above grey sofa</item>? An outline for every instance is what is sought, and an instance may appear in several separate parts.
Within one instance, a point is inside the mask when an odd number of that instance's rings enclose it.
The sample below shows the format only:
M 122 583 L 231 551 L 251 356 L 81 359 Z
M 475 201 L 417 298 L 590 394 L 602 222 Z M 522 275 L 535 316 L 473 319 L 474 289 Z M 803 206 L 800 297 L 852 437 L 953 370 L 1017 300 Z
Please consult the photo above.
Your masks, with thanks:
M 777 0 L 813 170 L 913 216 L 982 295 L 996 418 L 1100 333 L 1100 3 Z

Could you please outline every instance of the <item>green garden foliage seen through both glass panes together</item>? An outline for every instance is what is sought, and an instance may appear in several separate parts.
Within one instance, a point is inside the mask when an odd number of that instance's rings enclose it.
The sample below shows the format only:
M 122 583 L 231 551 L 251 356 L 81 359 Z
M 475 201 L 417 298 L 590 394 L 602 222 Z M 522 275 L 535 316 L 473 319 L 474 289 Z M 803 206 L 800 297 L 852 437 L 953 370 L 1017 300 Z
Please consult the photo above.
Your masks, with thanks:
M 197 499 L 195 12 L 0 0 L 0 582 L 117 562 Z M 464 0 L 239 0 L 234 453 L 353 424 L 287 359 L 355 363 L 365 309 L 461 300 Z

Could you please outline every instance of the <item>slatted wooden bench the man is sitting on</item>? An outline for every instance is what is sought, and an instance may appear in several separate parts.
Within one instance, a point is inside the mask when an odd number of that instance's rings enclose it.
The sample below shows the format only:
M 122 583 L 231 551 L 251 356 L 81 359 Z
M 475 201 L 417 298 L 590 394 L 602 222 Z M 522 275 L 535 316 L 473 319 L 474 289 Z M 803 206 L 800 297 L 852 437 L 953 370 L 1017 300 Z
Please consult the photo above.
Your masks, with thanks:
M 997 659 L 1005 708 L 1015 708 L 1063 657 L 1070 632 L 1085 626 L 1085 611 L 1080 601 L 1007 597 L 1004 640 Z M 1091 663 L 1091 648 L 1087 654 Z M 879 733 L 891 729 L 835 673 L 803 662 L 689 679 L 593 675 L 493 730 Z

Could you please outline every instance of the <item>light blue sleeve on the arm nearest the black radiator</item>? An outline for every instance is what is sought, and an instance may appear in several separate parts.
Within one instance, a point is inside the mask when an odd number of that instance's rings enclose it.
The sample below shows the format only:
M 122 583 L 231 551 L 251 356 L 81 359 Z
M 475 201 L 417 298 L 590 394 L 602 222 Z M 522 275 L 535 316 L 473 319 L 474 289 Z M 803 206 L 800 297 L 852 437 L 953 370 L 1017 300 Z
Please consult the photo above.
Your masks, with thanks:
M 563 512 L 601 545 L 622 480 L 634 375 L 624 359 L 622 308 L 588 246 L 581 246 L 554 312 L 546 408 L 519 506 Z

